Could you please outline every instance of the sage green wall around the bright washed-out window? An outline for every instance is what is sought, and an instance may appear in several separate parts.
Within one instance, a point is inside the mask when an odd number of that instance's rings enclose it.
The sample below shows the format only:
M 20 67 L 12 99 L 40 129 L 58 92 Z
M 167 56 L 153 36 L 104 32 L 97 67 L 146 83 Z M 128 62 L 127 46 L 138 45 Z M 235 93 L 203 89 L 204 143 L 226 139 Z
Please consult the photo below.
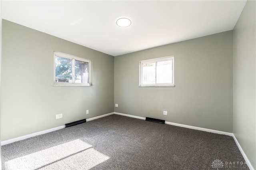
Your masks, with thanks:
M 139 61 L 170 55 L 175 87 L 139 87 Z M 232 55 L 228 31 L 117 56 L 115 112 L 232 132 Z

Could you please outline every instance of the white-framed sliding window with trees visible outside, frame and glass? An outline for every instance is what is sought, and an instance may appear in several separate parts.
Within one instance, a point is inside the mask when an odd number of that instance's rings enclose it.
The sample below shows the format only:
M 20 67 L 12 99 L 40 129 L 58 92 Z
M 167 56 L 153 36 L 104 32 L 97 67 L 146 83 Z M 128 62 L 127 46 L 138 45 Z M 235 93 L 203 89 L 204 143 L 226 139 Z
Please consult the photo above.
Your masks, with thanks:
M 54 85 L 90 86 L 91 61 L 54 52 Z

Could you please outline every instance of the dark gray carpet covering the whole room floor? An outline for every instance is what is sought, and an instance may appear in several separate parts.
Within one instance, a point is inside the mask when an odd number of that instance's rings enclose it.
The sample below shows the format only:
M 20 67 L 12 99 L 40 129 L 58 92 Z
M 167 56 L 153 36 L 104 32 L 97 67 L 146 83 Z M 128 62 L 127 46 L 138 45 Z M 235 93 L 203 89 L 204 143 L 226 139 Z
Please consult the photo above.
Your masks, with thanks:
M 241 162 L 231 136 L 120 115 L 2 146 L 3 170 L 248 170 Z

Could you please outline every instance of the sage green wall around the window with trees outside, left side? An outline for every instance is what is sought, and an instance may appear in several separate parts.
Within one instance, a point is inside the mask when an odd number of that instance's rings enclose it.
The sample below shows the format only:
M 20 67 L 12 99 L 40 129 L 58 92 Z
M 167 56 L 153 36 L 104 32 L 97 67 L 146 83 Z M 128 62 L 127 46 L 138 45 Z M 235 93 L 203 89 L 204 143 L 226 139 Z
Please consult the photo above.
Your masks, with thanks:
M 92 60 L 94 87 L 54 87 L 53 51 Z M 6 20 L 1 83 L 2 141 L 114 111 L 113 56 Z

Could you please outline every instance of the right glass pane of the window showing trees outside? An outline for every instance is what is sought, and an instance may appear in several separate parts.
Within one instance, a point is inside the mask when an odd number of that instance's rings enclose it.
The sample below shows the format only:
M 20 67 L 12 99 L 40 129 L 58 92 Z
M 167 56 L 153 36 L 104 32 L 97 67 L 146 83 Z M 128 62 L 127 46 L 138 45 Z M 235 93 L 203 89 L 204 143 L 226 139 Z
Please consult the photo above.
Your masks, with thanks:
M 75 83 L 89 83 L 89 63 L 75 60 Z

